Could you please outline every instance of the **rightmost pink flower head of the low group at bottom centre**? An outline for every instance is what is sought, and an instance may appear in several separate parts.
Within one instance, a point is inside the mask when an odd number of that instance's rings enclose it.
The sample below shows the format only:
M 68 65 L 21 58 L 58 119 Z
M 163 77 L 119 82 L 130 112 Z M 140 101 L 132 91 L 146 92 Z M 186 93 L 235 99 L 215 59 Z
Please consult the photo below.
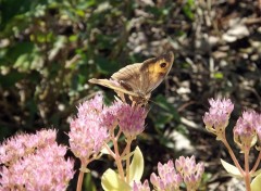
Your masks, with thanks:
M 175 161 L 176 170 L 181 173 L 187 190 L 196 190 L 204 171 L 203 163 L 196 164 L 195 156 L 181 156 Z

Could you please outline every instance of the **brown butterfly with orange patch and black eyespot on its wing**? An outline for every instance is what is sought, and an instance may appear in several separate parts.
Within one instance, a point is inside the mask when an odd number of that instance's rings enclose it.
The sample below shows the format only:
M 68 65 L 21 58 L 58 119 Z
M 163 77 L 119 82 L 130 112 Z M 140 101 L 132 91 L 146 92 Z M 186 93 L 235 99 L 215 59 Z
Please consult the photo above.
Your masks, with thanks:
M 169 74 L 174 61 L 173 52 L 127 65 L 111 79 L 89 79 L 89 82 L 113 89 L 124 102 L 146 105 L 154 90 Z

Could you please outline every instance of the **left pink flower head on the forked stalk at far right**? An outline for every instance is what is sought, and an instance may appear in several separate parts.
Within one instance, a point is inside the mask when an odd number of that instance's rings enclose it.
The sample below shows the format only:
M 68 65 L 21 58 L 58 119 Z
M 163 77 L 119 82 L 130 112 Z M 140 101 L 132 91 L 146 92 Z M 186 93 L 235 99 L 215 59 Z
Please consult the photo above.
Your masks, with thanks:
M 229 99 L 210 99 L 209 112 L 204 113 L 203 123 L 208 131 L 214 133 L 220 138 L 224 132 L 232 111 L 234 110 L 234 104 Z

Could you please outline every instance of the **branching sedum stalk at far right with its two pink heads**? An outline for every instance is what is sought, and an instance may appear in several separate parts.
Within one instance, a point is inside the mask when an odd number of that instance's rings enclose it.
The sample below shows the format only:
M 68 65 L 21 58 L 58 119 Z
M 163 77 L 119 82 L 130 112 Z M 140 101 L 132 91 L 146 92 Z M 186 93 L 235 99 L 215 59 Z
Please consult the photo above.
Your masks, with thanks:
M 258 168 L 261 153 L 259 152 L 259 156 L 251 170 L 249 169 L 249 153 L 250 149 L 261 141 L 261 114 L 254 111 L 246 111 L 243 113 L 243 116 L 238 118 L 234 127 L 234 142 L 240 149 L 240 153 L 244 153 L 245 165 L 243 169 L 225 137 L 225 128 L 228 125 L 234 104 L 229 99 L 211 99 L 209 102 L 211 107 L 203 117 L 206 128 L 214 133 L 217 140 L 221 140 L 225 144 L 235 166 L 245 180 L 246 190 L 251 191 L 251 175 L 253 175 Z M 256 149 L 260 151 L 259 145 L 256 145 Z

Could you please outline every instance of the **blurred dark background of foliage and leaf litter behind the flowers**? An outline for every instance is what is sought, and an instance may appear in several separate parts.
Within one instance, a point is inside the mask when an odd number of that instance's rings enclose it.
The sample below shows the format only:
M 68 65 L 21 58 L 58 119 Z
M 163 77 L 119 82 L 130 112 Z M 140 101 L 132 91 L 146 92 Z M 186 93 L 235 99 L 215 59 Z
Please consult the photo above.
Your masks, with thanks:
M 227 138 L 233 144 L 232 129 L 241 112 L 261 112 L 258 0 L 0 3 L 1 141 L 16 132 L 57 128 L 58 141 L 67 144 L 65 132 L 76 105 L 97 91 L 103 91 L 108 104 L 113 101 L 112 90 L 88 79 L 109 78 L 127 64 L 172 50 L 174 65 L 153 91 L 146 130 L 134 143 L 145 155 L 144 179 L 158 162 L 194 154 L 206 162 L 201 190 L 245 190 L 223 170 L 219 158 L 231 162 L 229 155 L 204 130 L 202 116 L 208 99 L 231 98 L 235 111 Z M 91 163 L 84 190 L 101 190 L 100 176 L 108 167 L 113 162 L 107 156 Z M 75 190 L 75 180 L 69 190 Z

